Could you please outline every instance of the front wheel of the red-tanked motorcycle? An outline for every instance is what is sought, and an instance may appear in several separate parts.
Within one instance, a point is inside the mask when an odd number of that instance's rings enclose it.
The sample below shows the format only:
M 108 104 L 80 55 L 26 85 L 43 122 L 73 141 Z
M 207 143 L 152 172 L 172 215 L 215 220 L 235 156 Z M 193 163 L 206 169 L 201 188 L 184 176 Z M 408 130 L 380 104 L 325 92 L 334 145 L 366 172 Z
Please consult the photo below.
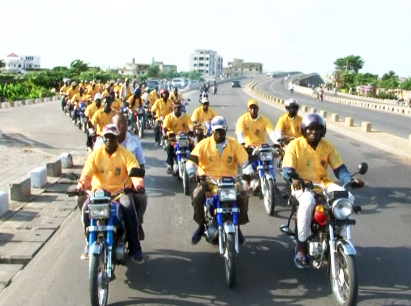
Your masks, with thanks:
M 356 258 L 345 254 L 341 248 L 338 248 L 335 253 L 335 266 L 337 281 L 333 281 L 332 273 L 330 273 L 330 281 L 336 304 L 339 306 L 356 305 L 358 297 Z

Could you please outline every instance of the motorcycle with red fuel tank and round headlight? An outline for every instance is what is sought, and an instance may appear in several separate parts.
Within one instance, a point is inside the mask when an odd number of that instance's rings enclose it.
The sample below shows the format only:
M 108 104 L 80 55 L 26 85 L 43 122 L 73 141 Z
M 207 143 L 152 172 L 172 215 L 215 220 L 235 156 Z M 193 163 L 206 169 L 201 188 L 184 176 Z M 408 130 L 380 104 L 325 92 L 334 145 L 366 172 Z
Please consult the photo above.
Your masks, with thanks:
M 354 175 L 364 175 L 367 170 L 367 163 L 361 163 Z M 298 178 L 298 175 L 294 178 Z M 349 187 L 350 183 L 347 183 L 343 186 L 344 191 L 328 192 L 323 184 L 313 184 L 311 181 L 306 184 L 308 190 L 321 191 L 316 194 L 316 207 L 311 222 L 312 235 L 307 239 L 307 255 L 315 269 L 328 267 L 332 292 L 340 306 L 356 305 L 358 297 L 357 252 L 351 241 L 351 225 L 355 225 L 356 221 L 349 219 L 349 216 L 352 212 L 359 213 L 361 207 L 355 206 L 349 199 Z M 298 209 L 298 201 L 291 195 L 290 198 L 293 209 L 288 224 L 282 225 L 280 229 L 297 244 L 297 223 L 293 231 L 290 229 L 290 222 Z M 344 226 L 346 238 L 340 235 Z

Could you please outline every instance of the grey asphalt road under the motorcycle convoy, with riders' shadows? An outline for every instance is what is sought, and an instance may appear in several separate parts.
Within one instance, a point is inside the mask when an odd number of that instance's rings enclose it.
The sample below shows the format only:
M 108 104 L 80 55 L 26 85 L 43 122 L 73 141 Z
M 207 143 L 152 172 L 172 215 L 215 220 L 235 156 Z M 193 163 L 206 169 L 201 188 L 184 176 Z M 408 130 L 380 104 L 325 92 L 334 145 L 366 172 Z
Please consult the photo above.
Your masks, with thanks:
M 249 98 L 229 84 L 218 90 L 210 96 L 211 104 L 227 117 L 232 134 Z M 187 97 L 192 98 L 191 113 L 198 105 L 198 94 Z M 8 112 L 10 119 L 0 112 L 1 120 L 6 120 L 4 126 L 43 144 L 44 150 L 79 150 L 85 142 L 58 104 L 14 111 Z M 272 122 L 282 115 L 266 104 L 261 104 L 260 111 Z M 50 131 L 44 136 L 41 131 L 46 127 Z M 233 290 L 226 288 L 217 248 L 205 241 L 190 244 L 196 228 L 190 198 L 182 193 L 181 182 L 166 175 L 166 153 L 155 147 L 151 132 L 147 136 L 143 140 L 149 197 L 143 242 L 146 261 L 116 268 L 117 279 L 110 283 L 110 305 L 333 305 L 326 270 L 299 270 L 293 265 L 291 244 L 279 230 L 289 207 L 282 202 L 277 215 L 269 217 L 256 197 L 250 198 L 251 223 L 242 227 L 247 243 L 240 250 L 238 283 Z M 358 251 L 358 305 L 411 305 L 410 165 L 337 133 L 327 132 L 326 138 L 350 169 L 355 170 L 361 161 L 369 164 L 363 177 L 367 187 L 356 192 L 363 213 L 355 217 L 353 230 Z M 88 262 L 79 259 L 83 246 L 80 214 L 76 214 L 2 291 L 0 305 L 89 305 Z

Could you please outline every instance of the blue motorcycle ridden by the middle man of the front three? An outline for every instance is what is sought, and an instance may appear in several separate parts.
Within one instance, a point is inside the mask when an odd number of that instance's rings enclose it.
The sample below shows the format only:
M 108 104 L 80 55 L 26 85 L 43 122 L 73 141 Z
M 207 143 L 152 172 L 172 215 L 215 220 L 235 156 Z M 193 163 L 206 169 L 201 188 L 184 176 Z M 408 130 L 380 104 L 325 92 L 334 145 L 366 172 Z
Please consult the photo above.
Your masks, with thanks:
M 190 156 L 194 163 L 195 158 L 196 156 Z M 219 246 L 219 253 L 224 258 L 226 284 L 233 288 L 240 253 L 236 189 L 240 177 L 221 177 L 218 181 L 207 176 L 198 179 L 200 183 L 212 186 L 204 203 L 206 222 L 203 235 L 208 243 Z

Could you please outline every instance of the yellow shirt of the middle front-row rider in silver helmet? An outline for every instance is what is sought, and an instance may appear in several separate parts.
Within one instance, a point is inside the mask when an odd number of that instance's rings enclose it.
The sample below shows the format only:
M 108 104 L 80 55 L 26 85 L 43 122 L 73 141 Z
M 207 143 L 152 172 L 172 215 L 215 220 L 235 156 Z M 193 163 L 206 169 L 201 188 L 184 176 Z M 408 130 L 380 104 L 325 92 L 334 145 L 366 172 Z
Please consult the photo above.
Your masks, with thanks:
M 222 176 L 235 177 L 238 174 L 238 166 L 242 166 L 248 160 L 248 154 L 234 138 L 226 137 L 226 141 L 227 145 L 221 156 L 214 137 L 205 138 L 197 143 L 191 154 L 199 158 L 199 175 L 219 179 Z

